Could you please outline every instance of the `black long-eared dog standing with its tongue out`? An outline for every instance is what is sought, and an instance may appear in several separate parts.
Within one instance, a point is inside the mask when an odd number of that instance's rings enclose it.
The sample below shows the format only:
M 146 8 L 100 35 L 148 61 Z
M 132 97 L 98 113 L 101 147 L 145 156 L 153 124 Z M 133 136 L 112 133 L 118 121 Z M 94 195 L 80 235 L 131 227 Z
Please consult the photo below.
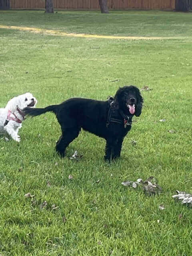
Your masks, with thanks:
M 140 116 L 143 98 L 135 86 L 119 88 L 114 98 L 107 101 L 71 98 L 59 105 L 46 108 L 24 108 L 25 114 L 38 116 L 48 111 L 56 114 L 62 135 L 56 143 L 56 151 L 65 155 L 66 147 L 83 128 L 106 140 L 105 159 L 120 156 L 124 137 L 131 129 L 132 117 Z

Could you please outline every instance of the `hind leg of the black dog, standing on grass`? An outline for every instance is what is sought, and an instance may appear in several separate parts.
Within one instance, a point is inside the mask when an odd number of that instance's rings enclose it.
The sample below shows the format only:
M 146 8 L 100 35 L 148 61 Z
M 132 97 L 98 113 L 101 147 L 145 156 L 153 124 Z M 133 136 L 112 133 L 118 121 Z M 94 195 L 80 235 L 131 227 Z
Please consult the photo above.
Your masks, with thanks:
M 66 147 L 79 135 L 79 130 L 63 131 L 58 142 L 56 143 L 56 151 L 60 156 L 65 156 Z

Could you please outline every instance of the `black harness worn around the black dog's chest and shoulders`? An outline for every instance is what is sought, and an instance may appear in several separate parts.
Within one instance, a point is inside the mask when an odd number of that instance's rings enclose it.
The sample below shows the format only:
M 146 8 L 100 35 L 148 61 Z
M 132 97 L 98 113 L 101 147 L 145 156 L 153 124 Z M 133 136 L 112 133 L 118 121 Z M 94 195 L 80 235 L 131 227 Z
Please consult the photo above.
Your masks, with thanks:
M 109 111 L 108 111 L 108 116 L 107 116 L 107 122 L 106 122 L 106 127 L 108 128 L 110 122 L 114 122 L 114 123 L 118 123 L 118 124 L 122 124 L 124 125 L 124 128 L 126 128 L 128 125 L 132 124 L 132 116 L 126 116 L 122 110 L 112 110 L 111 108 L 111 103 L 113 102 L 113 98 L 110 97 L 108 99 L 108 103 L 109 103 Z M 122 116 L 122 119 L 116 119 L 113 118 L 113 116 L 116 116 L 116 113 L 118 111 L 118 114 L 120 114 L 120 116 Z

